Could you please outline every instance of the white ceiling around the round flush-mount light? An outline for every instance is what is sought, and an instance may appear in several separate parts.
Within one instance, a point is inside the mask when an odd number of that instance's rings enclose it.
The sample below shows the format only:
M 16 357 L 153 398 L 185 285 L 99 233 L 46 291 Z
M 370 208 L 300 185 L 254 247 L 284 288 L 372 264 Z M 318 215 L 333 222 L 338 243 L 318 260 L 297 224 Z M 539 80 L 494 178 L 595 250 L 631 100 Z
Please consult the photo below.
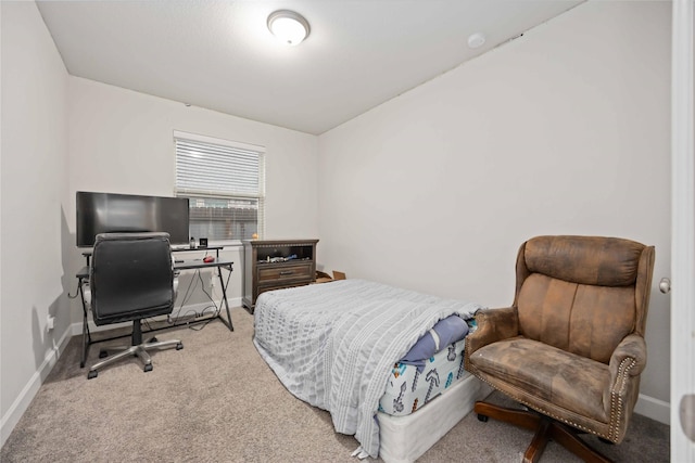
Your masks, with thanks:
M 37 1 L 73 76 L 319 134 L 584 0 Z M 298 47 L 267 30 L 289 9 Z M 468 37 L 482 33 L 483 47 Z

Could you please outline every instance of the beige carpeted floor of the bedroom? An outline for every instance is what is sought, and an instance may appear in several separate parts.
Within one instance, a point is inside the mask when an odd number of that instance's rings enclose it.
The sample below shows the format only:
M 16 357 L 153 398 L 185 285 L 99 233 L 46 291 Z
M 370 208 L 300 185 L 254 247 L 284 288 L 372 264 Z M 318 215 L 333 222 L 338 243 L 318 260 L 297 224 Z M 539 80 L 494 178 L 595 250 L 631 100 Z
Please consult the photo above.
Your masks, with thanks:
M 185 348 L 154 352 L 152 372 L 128 359 L 89 381 L 79 368 L 81 338 L 74 337 L 0 461 L 356 462 L 350 453 L 357 441 L 336 434 L 330 415 L 289 394 L 261 359 L 253 317 L 237 308 L 232 321 L 233 333 L 219 321 L 157 332 Z M 103 346 L 92 346 L 88 364 Z M 489 400 L 510 404 L 497 393 Z M 531 437 L 471 413 L 418 461 L 518 462 Z M 644 416 L 635 415 L 618 446 L 586 439 L 617 462 L 669 461 L 669 426 Z M 555 442 L 541 459 L 577 461 Z

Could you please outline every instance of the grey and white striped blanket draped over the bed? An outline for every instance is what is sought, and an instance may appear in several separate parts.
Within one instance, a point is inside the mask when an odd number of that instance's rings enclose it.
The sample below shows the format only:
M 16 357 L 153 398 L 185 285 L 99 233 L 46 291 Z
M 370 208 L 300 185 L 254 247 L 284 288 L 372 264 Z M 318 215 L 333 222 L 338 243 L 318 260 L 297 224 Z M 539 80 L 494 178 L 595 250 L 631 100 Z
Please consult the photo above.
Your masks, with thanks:
M 375 415 L 392 366 L 439 320 L 469 319 L 478 304 L 364 280 L 263 293 L 254 344 L 298 398 L 328 410 L 338 433 L 379 454 Z

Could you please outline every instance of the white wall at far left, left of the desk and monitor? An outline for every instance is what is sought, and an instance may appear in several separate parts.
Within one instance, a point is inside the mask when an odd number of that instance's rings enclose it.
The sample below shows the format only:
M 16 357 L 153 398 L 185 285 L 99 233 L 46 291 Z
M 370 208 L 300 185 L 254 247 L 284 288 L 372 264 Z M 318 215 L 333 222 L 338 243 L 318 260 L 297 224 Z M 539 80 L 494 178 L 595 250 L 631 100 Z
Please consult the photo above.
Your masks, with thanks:
M 2 442 L 28 407 L 70 325 L 63 268 L 67 72 L 34 2 L 0 2 Z M 47 332 L 48 314 L 56 327 Z

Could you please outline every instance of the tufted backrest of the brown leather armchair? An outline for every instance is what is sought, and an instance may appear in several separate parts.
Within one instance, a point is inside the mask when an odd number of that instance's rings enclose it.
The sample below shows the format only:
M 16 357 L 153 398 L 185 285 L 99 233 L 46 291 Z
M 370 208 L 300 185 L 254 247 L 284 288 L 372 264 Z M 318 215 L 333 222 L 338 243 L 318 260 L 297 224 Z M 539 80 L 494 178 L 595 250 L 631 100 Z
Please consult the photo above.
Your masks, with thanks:
M 644 336 L 654 246 L 602 236 L 536 236 L 517 256 L 519 331 L 608 363 L 622 338 Z

